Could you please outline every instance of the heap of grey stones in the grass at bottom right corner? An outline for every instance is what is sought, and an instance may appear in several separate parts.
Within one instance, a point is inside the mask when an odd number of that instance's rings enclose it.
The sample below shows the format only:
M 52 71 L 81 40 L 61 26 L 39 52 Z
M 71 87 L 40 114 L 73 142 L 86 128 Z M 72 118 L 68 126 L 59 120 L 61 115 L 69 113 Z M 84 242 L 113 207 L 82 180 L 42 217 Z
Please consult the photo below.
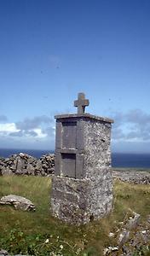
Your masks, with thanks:
M 114 234 L 117 237 L 117 244 L 113 247 L 106 247 L 103 255 L 132 256 L 136 250 L 141 250 L 141 247 L 150 247 L 149 216 L 147 216 L 146 222 L 141 223 L 140 214 L 132 212 L 131 215 Z

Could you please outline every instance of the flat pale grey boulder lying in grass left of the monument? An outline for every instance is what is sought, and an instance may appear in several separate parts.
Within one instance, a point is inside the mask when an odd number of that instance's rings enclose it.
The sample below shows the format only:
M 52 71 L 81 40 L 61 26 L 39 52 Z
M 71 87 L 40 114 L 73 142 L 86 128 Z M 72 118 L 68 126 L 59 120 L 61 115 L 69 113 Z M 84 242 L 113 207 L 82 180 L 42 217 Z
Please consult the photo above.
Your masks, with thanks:
M 6 195 L 0 200 L 0 205 L 13 205 L 15 209 L 22 211 L 35 211 L 32 201 L 19 195 Z

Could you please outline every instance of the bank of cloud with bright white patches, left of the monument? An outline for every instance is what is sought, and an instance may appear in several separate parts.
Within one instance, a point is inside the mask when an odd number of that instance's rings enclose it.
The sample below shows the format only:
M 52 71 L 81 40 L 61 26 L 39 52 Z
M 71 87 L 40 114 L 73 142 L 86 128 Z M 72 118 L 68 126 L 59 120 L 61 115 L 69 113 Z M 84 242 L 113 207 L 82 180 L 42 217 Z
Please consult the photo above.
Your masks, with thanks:
M 45 115 L 26 118 L 16 123 L 1 119 L 0 141 L 3 148 L 54 149 L 54 119 Z

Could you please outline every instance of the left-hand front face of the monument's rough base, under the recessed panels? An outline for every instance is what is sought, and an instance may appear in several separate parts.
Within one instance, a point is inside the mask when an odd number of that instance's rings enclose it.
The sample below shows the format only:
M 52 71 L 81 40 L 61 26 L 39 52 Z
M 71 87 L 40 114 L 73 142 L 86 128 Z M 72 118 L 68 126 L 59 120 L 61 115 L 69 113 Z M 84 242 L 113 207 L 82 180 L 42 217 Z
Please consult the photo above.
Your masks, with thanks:
M 51 212 L 72 224 L 82 224 L 89 220 L 88 196 L 89 181 L 68 177 L 52 177 Z

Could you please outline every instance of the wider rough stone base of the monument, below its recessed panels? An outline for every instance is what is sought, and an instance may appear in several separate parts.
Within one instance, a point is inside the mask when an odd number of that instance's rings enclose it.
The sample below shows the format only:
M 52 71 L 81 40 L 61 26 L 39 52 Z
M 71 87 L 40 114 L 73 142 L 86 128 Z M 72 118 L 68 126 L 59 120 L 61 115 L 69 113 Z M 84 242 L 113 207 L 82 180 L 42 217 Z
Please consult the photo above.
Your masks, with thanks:
M 109 170 L 102 171 L 108 178 L 107 171 Z M 92 180 L 52 177 L 52 214 L 67 222 L 69 218 L 69 222 L 73 224 L 85 224 L 91 219 L 100 218 L 110 212 L 113 203 L 113 183 L 111 176 L 107 180 L 105 175 L 104 179 L 101 178 L 102 176 L 101 174 L 100 178 L 92 177 Z M 67 207 L 67 204 L 73 207 Z

